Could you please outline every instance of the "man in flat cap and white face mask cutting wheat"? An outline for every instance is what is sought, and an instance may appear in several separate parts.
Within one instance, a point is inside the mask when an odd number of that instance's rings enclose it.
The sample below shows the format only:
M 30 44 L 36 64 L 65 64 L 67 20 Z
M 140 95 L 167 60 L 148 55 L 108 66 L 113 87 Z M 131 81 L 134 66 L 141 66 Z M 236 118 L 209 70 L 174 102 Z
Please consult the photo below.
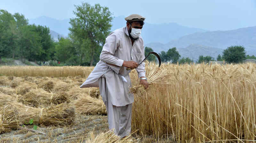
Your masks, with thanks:
M 126 26 L 110 33 L 100 54 L 100 61 L 80 86 L 100 87 L 100 95 L 107 107 L 109 129 L 125 137 L 131 132 L 133 94 L 129 92 L 131 79 L 127 68 L 136 69 L 140 84 L 148 88 L 143 39 L 140 36 L 145 18 L 132 14 L 125 18 Z

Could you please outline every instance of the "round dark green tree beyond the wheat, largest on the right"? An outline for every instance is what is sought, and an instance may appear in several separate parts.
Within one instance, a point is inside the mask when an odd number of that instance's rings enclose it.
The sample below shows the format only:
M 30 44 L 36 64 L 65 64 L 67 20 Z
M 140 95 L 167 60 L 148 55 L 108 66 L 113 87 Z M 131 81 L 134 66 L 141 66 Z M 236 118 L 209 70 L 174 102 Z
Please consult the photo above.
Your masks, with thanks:
M 228 63 L 240 63 L 246 59 L 243 46 L 231 46 L 223 50 L 222 58 Z

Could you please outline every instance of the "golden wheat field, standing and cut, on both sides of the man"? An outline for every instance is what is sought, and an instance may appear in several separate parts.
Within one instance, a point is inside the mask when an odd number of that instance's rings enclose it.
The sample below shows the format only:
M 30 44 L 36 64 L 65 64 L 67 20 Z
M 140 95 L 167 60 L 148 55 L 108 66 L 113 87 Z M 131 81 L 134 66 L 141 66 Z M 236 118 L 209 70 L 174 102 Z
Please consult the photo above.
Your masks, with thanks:
M 31 118 L 37 125 L 72 127 L 80 115 L 106 115 L 99 89 L 79 88 L 92 70 L 0 67 L 0 132 L 17 130 Z M 132 136 L 141 137 L 140 142 L 150 142 L 146 137 L 154 138 L 151 142 L 256 142 L 255 71 L 253 63 L 163 64 L 160 68 L 147 63 L 150 86 L 144 90 L 132 70 Z M 107 131 L 83 139 L 74 142 L 139 142 L 120 140 Z

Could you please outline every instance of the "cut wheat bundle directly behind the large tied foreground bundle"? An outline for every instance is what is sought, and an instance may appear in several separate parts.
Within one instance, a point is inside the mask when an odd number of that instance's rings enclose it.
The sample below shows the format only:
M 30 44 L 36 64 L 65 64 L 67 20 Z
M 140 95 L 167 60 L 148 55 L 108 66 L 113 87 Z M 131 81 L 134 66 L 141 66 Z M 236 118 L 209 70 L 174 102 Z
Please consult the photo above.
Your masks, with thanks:
M 70 99 L 65 94 L 53 94 L 49 93 L 42 88 L 31 89 L 29 92 L 22 96 L 22 99 L 19 101 L 29 106 L 49 106 L 50 104 L 60 104 L 70 102 Z

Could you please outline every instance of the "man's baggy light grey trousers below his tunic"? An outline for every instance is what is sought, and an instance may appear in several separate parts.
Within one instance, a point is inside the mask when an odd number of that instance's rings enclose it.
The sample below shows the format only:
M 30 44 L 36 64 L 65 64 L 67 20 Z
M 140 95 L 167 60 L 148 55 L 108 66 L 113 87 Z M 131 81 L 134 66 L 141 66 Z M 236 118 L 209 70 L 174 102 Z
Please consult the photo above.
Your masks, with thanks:
M 117 136 L 121 138 L 128 136 L 131 133 L 132 124 L 132 104 L 125 106 L 115 106 L 111 103 L 108 95 L 108 88 L 106 85 L 106 79 L 101 77 L 99 79 L 100 92 L 105 92 L 106 97 L 102 97 L 103 102 L 107 107 L 108 113 L 108 127 L 109 130 L 114 129 Z M 103 94 L 104 95 L 104 94 Z M 106 99 L 104 101 L 104 99 Z

